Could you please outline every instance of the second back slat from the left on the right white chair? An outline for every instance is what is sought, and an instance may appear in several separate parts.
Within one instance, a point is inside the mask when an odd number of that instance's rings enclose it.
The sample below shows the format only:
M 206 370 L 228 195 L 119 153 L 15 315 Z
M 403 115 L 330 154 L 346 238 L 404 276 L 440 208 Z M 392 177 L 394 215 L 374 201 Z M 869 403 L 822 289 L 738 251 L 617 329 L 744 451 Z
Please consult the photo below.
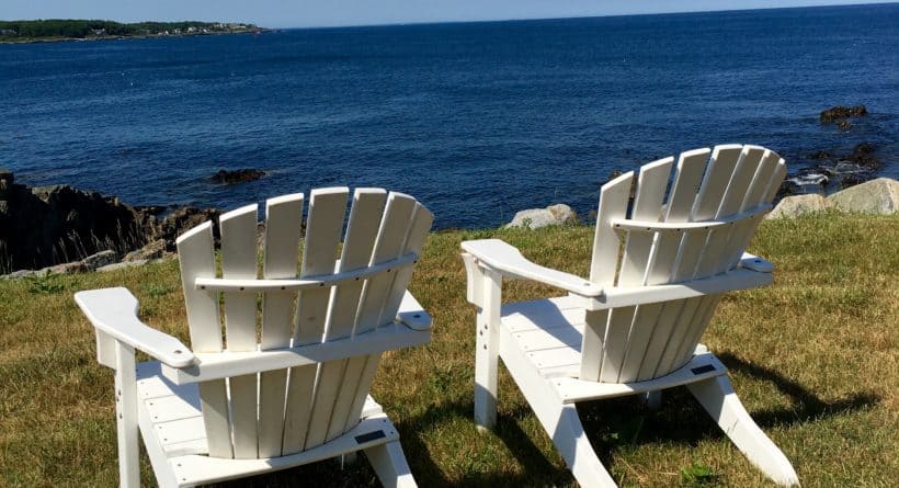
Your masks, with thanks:
M 634 198 L 631 218 L 648 222 L 658 222 L 662 213 L 665 186 L 671 174 L 673 158 L 665 158 L 650 162 L 640 168 L 637 178 L 637 194 Z M 617 286 L 640 286 L 645 284 L 646 271 L 649 264 L 649 254 L 652 249 L 653 235 L 649 232 L 627 232 L 618 273 Z M 642 314 L 638 313 L 638 308 Z M 638 316 L 644 320 L 649 315 L 658 313 L 657 307 L 619 307 L 610 311 L 608 325 L 605 332 L 605 343 L 602 360 L 601 382 L 617 383 L 628 375 L 636 377 L 640 358 L 636 358 L 638 349 L 646 349 L 646 328 L 631 327 L 636 325 Z M 638 344 L 639 342 L 639 344 Z M 629 358 L 629 363 L 628 363 Z

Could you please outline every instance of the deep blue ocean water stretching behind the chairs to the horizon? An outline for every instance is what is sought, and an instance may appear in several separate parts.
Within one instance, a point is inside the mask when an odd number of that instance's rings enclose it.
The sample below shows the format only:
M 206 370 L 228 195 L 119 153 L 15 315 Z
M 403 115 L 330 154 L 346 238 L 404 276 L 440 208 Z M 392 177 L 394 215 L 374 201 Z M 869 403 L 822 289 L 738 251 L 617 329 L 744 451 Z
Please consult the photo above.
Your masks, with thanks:
M 897 134 L 896 3 L 0 45 L 0 167 L 138 205 L 385 186 L 486 227 L 722 143 L 797 171 L 868 141 L 899 178 Z

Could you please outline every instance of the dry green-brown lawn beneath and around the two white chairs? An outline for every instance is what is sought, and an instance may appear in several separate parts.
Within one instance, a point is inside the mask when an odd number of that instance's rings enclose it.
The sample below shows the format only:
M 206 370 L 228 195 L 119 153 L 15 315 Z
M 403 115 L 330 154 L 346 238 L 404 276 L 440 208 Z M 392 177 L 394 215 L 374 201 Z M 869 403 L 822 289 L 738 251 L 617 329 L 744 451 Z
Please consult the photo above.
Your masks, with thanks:
M 412 291 L 433 341 L 389 353 L 374 386 L 421 486 L 573 486 L 551 442 L 500 371 L 499 421 L 471 421 L 475 309 L 465 302 L 464 239 L 500 237 L 535 261 L 585 274 L 592 229 L 433 234 Z M 751 250 L 774 285 L 728 295 L 704 342 L 793 462 L 805 487 L 899 479 L 899 216 L 835 213 L 765 222 Z M 0 281 L 0 486 L 117 483 L 112 372 L 96 364 L 76 291 L 125 285 L 143 319 L 186 341 L 174 261 L 112 273 Z M 510 300 L 557 293 L 507 282 Z M 621 486 L 771 486 L 682 388 L 660 410 L 634 398 L 579 406 Z M 143 480 L 152 473 L 143 458 Z M 364 459 L 266 476 L 253 486 L 377 486 Z M 235 486 L 244 486 L 243 484 Z

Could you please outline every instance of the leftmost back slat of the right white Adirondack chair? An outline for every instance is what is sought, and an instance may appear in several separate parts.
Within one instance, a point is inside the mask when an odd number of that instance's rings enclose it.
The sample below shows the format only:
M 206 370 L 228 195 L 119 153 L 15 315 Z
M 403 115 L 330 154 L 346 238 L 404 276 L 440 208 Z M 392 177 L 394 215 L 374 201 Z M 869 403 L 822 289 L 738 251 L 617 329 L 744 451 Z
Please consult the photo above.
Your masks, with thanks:
M 630 184 L 634 172 L 627 172 L 610 181 L 600 189 L 600 207 L 596 212 L 596 231 L 593 236 L 593 259 L 590 263 L 590 281 L 603 287 L 615 284 L 618 269 L 621 237 L 611 224 L 613 218 L 627 214 Z M 603 350 L 605 349 L 608 310 L 588 311 L 583 340 L 581 341 L 580 377 L 595 382 L 600 379 Z

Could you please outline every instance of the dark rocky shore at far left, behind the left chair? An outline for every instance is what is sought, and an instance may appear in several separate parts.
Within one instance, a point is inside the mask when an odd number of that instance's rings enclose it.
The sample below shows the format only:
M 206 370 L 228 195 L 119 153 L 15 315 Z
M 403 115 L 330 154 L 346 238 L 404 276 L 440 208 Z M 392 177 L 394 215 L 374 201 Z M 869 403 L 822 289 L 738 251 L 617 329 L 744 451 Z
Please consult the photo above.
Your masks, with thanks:
M 67 185 L 30 188 L 0 169 L 0 274 L 162 258 L 174 251 L 180 232 L 218 215 L 214 208 L 132 206 Z

